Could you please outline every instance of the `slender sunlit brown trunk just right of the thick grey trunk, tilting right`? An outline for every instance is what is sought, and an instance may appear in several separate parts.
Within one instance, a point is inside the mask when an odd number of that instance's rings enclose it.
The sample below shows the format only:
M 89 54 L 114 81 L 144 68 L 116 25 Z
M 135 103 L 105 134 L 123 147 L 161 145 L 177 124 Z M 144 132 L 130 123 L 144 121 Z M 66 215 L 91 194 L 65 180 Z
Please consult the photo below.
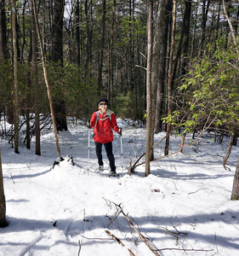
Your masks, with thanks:
M 172 108 L 172 84 L 173 84 L 172 76 L 173 76 L 174 44 L 175 44 L 175 28 L 176 28 L 176 7 L 177 7 L 177 0 L 174 0 L 172 44 L 170 49 L 169 68 L 168 68 L 168 116 L 171 114 L 171 108 Z M 170 135 L 170 123 L 168 122 L 166 144 L 164 149 L 165 155 L 168 155 L 168 152 L 169 152 L 169 135 Z

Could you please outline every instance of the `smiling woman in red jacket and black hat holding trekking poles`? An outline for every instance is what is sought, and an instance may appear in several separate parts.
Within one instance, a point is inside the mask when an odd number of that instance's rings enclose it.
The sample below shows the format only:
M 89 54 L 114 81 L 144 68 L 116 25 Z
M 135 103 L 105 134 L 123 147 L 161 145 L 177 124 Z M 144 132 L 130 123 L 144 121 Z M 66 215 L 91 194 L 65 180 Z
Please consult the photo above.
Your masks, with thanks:
M 115 157 L 112 152 L 112 141 L 114 140 L 113 131 L 122 134 L 122 129 L 117 125 L 115 114 L 108 108 L 108 100 L 105 97 L 100 98 L 98 102 L 98 111 L 92 114 L 88 123 L 88 128 L 94 128 L 95 152 L 98 158 L 99 171 L 104 171 L 104 163 L 102 159 L 102 145 L 110 162 L 111 171 L 109 177 L 117 177 L 115 166 Z M 112 131 L 113 130 L 113 131 Z

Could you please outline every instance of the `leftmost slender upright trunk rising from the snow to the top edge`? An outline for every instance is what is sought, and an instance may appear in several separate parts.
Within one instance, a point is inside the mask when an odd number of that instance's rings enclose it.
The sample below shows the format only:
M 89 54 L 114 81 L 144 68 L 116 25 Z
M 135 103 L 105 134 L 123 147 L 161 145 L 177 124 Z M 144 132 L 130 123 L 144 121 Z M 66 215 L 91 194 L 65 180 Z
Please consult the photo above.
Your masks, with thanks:
M 17 35 L 16 35 L 16 8 L 12 1 L 12 30 L 14 47 L 14 152 L 19 154 L 19 87 L 17 78 Z

